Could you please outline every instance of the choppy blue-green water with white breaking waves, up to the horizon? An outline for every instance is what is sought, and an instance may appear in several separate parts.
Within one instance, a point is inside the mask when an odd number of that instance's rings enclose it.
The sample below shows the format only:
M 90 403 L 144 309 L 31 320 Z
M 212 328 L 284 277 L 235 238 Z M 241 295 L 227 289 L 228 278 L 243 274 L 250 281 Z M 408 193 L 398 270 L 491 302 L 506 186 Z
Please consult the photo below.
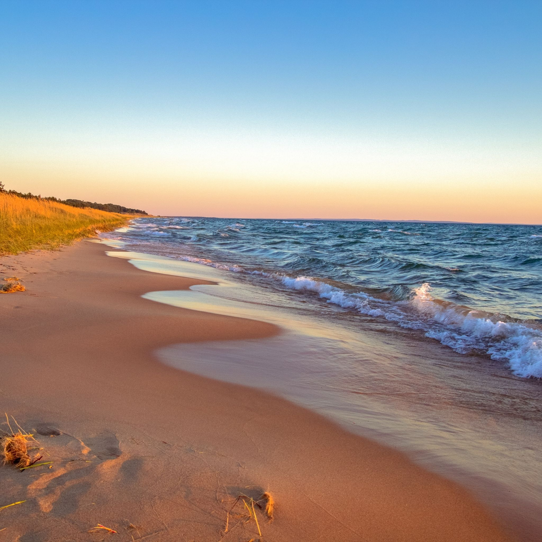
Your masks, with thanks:
M 542 227 L 141 218 L 113 237 L 542 378 Z

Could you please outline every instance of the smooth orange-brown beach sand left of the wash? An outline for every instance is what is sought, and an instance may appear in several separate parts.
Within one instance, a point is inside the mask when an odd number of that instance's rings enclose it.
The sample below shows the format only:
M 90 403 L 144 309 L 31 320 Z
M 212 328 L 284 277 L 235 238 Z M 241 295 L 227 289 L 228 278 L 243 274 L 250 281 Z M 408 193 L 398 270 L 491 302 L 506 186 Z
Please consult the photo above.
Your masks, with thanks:
M 81 242 L 0 259 L 0 411 L 36 433 L 47 466 L 0 468 L 0 541 L 248 542 L 244 493 L 269 491 L 269 541 L 507 540 L 467 491 L 281 398 L 177 371 L 182 341 L 268 337 L 273 325 L 141 294 L 193 279 L 136 269 Z M 2 426 L 5 427 L 5 426 Z M 89 533 L 96 524 L 118 531 Z M 129 527 L 129 525 L 135 528 Z M 3 531 L 2 531 L 3 530 Z

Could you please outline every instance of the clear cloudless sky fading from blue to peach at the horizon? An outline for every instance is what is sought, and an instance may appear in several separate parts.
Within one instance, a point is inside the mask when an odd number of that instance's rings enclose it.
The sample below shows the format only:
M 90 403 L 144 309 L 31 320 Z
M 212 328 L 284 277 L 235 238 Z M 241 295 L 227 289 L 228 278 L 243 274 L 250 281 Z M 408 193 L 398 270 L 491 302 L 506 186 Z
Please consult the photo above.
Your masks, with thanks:
M 0 180 L 153 214 L 542 223 L 542 2 L 2 0 Z

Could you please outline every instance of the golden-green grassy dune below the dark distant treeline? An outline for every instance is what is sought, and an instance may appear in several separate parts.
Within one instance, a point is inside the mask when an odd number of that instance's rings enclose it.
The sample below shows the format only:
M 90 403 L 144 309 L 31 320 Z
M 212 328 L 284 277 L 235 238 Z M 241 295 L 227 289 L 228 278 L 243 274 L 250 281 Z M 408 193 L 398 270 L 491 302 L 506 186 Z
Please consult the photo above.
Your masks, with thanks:
M 93 235 L 95 230 L 118 228 L 128 218 L 114 212 L 0 193 L 0 255 L 56 248 Z

